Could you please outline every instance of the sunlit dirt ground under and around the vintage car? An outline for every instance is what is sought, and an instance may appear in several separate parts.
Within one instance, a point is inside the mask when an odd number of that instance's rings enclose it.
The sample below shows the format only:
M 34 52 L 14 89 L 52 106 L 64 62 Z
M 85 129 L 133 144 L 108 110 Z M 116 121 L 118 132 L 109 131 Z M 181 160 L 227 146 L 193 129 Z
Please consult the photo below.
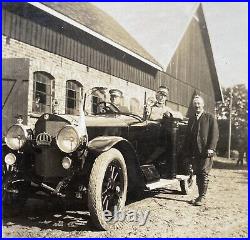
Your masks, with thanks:
M 22 216 L 3 219 L 3 237 L 248 237 L 248 171 L 235 161 L 218 159 L 211 171 L 206 206 L 188 203 L 197 195 L 181 195 L 178 185 L 147 193 L 127 209 L 149 210 L 144 226 L 127 224 L 119 230 L 97 231 L 89 214 L 55 212 L 44 202 L 29 201 Z

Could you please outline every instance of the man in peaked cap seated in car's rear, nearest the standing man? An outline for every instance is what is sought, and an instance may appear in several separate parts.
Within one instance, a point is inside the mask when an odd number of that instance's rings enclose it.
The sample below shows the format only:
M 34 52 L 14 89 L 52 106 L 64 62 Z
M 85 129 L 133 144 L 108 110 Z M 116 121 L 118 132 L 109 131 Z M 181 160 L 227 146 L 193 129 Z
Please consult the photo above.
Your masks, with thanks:
M 156 102 L 151 107 L 151 111 L 149 113 L 150 120 L 161 120 L 164 116 L 183 118 L 181 113 L 177 114 L 170 107 L 166 106 L 168 97 L 169 89 L 165 86 L 160 86 L 155 95 Z

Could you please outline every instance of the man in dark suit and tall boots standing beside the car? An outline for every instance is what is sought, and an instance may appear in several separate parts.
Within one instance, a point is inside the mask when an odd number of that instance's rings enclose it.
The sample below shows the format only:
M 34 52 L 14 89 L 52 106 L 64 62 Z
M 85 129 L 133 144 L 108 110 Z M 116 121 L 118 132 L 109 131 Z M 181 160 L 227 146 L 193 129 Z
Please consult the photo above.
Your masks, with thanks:
M 204 111 L 204 100 L 200 96 L 193 99 L 195 115 L 190 117 L 186 136 L 186 153 L 192 159 L 199 196 L 191 203 L 204 204 L 208 188 L 208 174 L 212 169 L 213 156 L 219 138 L 217 120 Z

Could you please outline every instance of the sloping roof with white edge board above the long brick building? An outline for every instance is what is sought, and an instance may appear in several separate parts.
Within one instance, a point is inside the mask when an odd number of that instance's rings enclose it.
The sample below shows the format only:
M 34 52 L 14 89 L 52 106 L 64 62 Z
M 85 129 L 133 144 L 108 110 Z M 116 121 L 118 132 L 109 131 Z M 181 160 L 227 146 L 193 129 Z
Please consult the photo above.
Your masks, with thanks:
M 93 4 L 86 2 L 29 3 L 162 70 L 162 66 L 117 21 Z

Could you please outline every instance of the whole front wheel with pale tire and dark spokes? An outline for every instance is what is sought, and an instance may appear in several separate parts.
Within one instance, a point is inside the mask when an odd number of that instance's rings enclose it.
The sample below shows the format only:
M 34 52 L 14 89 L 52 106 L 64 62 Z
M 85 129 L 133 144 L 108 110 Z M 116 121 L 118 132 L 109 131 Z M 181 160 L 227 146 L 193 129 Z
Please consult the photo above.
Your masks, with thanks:
M 119 227 L 115 213 L 122 211 L 127 197 L 127 168 L 122 154 L 114 148 L 99 155 L 93 165 L 88 189 L 88 206 L 99 229 Z

